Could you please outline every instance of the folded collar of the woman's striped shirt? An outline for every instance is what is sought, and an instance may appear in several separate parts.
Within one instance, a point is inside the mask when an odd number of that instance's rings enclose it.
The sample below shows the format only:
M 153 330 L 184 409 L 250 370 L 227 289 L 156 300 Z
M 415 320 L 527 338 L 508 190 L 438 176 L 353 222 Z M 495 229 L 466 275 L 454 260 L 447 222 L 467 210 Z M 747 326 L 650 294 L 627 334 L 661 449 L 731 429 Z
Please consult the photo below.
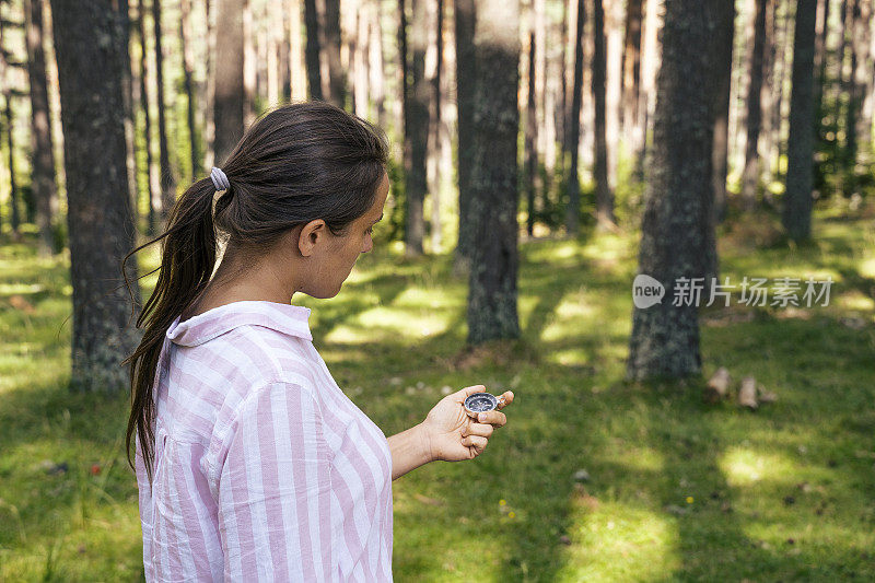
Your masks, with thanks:
M 198 346 L 233 330 L 238 326 L 264 326 L 305 340 L 310 333 L 310 308 L 267 300 L 242 300 L 220 305 L 179 322 L 179 316 L 167 328 L 166 337 L 182 346 Z

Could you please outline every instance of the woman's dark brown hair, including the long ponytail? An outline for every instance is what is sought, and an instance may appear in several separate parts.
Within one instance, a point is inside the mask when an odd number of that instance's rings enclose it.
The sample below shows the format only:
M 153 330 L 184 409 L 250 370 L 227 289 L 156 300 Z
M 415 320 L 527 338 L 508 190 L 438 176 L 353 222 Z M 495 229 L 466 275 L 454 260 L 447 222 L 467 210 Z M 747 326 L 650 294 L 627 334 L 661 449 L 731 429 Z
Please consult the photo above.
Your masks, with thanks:
M 145 324 L 143 337 L 122 361 L 130 363 L 128 464 L 136 467 L 131 438 L 137 431 L 150 483 L 161 349 L 170 325 L 210 282 L 217 235 L 226 237 L 229 249 L 245 253 L 267 249 L 290 229 L 316 219 L 342 235 L 373 206 L 387 162 L 386 136 L 366 120 L 326 102 L 282 105 L 253 124 L 221 166 L 231 187 L 214 211 L 217 190 L 208 176 L 176 200 L 161 235 L 122 259 L 127 273 L 131 255 L 163 240 L 158 283 L 137 318 L 138 328 Z M 130 291 L 127 276 L 125 282 Z

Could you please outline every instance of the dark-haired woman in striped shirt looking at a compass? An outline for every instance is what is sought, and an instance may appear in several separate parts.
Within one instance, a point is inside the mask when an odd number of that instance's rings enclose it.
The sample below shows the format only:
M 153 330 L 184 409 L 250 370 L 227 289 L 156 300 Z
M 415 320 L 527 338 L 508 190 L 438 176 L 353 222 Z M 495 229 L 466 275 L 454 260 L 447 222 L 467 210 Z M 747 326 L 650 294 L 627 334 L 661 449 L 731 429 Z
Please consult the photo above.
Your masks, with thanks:
M 279 107 L 147 243 L 163 238 L 161 272 L 126 361 L 147 580 L 390 581 L 392 480 L 480 455 L 506 422 L 466 415 L 478 385 L 386 439 L 291 305 L 336 295 L 371 250 L 387 156 L 382 131 L 338 107 Z

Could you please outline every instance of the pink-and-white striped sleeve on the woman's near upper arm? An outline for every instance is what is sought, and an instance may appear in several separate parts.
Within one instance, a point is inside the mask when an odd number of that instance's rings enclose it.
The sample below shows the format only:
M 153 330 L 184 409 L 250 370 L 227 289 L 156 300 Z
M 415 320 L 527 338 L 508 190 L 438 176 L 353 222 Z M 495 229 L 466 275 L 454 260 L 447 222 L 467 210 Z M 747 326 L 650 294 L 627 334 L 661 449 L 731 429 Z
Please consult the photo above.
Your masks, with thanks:
M 336 581 L 330 448 L 313 394 L 271 383 L 249 394 L 219 469 L 228 581 Z

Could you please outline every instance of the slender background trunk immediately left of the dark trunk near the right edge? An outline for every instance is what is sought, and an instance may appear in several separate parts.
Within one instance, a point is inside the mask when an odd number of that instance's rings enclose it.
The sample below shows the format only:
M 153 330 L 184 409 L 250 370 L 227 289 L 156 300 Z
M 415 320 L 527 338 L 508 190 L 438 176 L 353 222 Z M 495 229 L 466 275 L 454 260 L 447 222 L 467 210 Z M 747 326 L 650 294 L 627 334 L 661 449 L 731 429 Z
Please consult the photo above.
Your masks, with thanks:
M 759 155 L 757 144 L 762 125 L 762 55 L 766 47 L 766 9 L 767 0 L 756 0 L 756 18 L 754 22 L 754 49 L 750 51 L 748 70 L 750 82 L 747 88 L 747 131 L 745 144 L 745 168 L 742 176 L 742 199 L 747 210 L 757 203 L 757 186 L 759 185 Z

